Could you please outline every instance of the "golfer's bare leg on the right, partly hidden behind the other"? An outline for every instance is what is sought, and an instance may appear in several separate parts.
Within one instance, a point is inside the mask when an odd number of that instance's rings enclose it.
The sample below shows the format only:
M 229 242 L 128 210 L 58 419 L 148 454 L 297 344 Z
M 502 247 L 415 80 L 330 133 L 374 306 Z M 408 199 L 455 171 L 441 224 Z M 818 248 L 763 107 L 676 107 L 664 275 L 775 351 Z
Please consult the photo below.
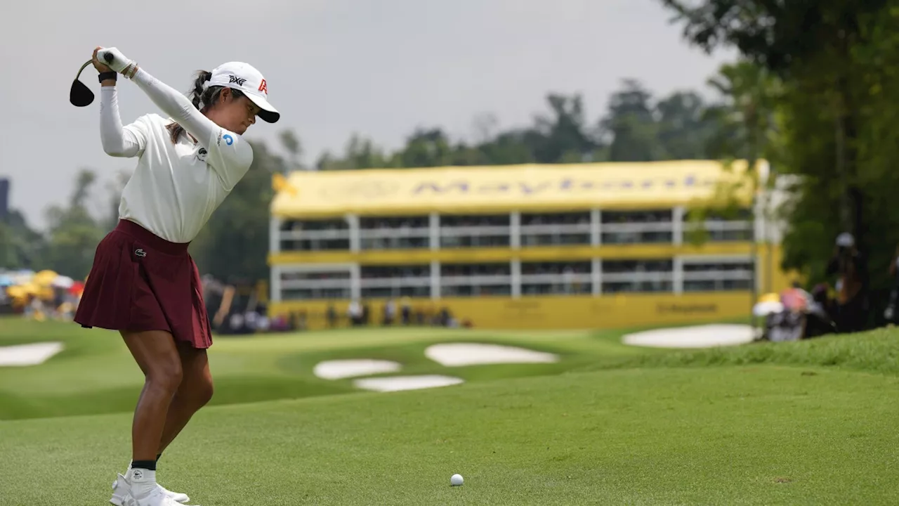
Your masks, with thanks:
M 179 343 L 178 353 L 181 356 L 181 386 L 169 406 L 162 441 L 156 453 L 163 453 L 191 420 L 193 413 L 200 411 L 212 398 L 212 374 L 209 372 L 206 350 Z

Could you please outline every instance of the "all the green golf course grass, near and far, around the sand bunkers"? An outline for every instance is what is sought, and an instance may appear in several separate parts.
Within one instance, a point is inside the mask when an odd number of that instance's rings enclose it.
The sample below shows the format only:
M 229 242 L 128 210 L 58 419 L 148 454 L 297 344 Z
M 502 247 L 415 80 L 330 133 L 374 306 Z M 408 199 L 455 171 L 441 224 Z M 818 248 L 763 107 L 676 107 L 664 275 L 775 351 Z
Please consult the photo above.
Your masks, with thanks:
M 899 334 L 706 350 L 621 331 L 334 330 L 217 338 L 217 391 L 159 463 L 191 504 L 895 504 Z M 0 321 L 0 505 L 105 504 L 142 384 L 117 335 Z M 556 364 L 443 367 L 436 342 L 550 351 Z M 365 393 L 320 360 L 386 358 L 466 384 Z M 450 487 L 449 476 L 465 477 Z

